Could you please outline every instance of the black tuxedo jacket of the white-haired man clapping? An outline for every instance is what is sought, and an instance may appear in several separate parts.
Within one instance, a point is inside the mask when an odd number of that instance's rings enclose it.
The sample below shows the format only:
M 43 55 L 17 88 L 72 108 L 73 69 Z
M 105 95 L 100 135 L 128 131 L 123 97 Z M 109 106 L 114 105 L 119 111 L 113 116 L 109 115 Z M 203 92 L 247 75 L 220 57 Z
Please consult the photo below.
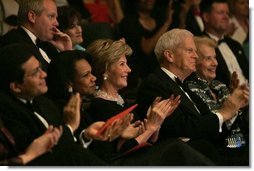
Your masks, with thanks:
M 178 108 L 162 124 L 160 139 L 169 137 L 189 137 L 191 139 L 216 139 L 219 135 L 219 119 L 211 113 L 199 113 L 194 104 L 174 82 L 160 68 L 151 73 L 141 84 L 137 103 L 138 114 L 144 118 L 148 107 L 153 100 L 160 96 L 169 98 L 172 94 L 181 95 L 181 103 Z M 199 109 L 206 108 L 205 104 L 196 104 Z M 203 109 L 200 111 L 204 111 Z

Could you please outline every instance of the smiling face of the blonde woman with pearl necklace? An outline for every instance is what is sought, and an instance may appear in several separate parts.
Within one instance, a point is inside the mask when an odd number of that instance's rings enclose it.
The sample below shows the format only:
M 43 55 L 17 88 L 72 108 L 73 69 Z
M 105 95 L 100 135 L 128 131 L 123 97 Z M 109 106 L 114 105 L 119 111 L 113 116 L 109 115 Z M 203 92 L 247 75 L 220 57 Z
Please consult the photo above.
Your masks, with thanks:
M 126 56 L 122 55 L 120 59 L 111 64 L 108 68 L 107 81 L 114 87 L 116 90 L 120 90 L 127 86 L 127 77 L 131 72 L 131 69 L 127 65 Z

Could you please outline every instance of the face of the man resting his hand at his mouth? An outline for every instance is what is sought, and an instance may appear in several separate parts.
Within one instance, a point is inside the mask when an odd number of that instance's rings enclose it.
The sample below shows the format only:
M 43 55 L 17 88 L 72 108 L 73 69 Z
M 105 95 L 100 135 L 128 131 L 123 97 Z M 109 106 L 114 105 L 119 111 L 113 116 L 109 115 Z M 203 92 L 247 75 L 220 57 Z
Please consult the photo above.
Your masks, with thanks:
M 56 4 L 52 0 L 44 0 L 43 11 L 34 21 L 36 36 L 43 41 L 50 41 L 54 38 L 57 26 Z

